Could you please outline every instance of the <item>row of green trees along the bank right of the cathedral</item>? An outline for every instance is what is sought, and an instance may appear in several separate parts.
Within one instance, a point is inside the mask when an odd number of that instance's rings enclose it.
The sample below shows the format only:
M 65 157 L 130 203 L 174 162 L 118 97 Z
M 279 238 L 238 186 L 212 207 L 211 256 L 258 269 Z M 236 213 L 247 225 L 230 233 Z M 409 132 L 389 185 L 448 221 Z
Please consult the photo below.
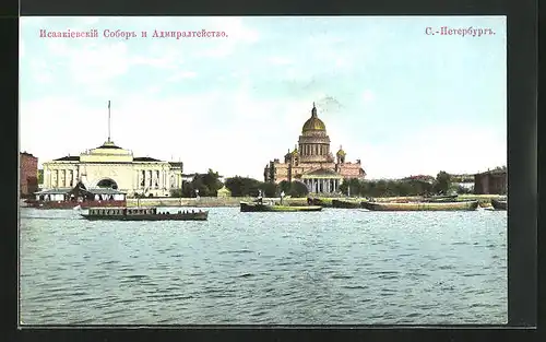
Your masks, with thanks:
M 403 180 L 359 180 L 348 179 L 340 186 L 344 194 L 355 197 L 405 197 L 405 196 L 430 196 L 471 193 L 472 190 L 458 186 L 452 176 L 440 172 L 434 181 L 420 179 Z

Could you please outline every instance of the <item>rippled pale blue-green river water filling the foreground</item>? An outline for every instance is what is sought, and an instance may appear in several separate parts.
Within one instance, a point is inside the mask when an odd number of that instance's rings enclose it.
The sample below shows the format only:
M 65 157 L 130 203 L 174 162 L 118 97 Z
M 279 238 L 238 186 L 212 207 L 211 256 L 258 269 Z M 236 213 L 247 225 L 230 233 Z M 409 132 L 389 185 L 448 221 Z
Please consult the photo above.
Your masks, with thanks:
M 24 325 L 507 322 L 507 212 L 21 210 Z

